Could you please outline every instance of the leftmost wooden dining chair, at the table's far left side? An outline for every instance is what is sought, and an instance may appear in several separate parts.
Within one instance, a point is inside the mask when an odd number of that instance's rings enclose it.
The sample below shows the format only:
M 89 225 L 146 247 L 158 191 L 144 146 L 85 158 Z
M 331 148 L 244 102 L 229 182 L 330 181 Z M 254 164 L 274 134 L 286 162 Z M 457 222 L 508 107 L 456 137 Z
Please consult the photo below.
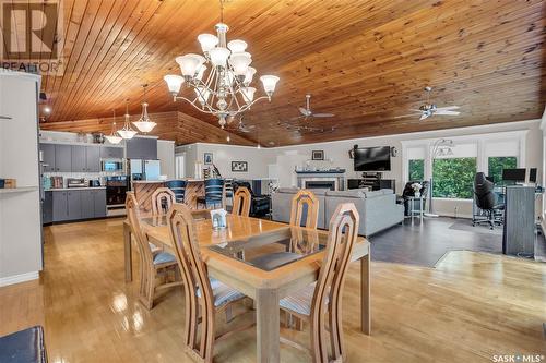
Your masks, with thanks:
M 181 281 L 169 281 L 167 276 L 170 270 L 173 270 L 173 275 L 177 275 L 178 264 L 173 254 L 161 250 L 153 251 L 153 244 L 147 242 L 140 223 L 139 205 L 133 192 L 127 193 L 126 209 L 131 233 L 140 252 L 139 300 L 146 308 L 151 310 L 154 306 L 156 292 L 182 285 Z M 157 278 L 162 278 L 163 281 L 156 283 Z

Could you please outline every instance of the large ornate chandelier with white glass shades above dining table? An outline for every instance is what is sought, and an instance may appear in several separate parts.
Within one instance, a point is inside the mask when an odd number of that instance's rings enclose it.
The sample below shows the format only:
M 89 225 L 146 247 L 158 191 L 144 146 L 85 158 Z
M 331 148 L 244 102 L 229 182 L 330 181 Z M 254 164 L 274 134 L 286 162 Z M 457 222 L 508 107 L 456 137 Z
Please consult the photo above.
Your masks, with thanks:
M 194 53 L 177 57 L 182 75 L 164 76 L 175 101 L 186 100 L 199 111 L 216 116 L 222 129 L 228 118 L 245 112 L 257 101 L 265 98 L 271 101 L 278 82 L 275 75 L 262 75 L 260 81 L 265 96 L 254 99 L 256 88 L 250 86 L 256 74 L 256 69 L 250 66 L 252 57 L 246 51 L 246 41 L 227 43 L 229 27 L 223 23 L 223 10 L 221 0 L 221 22 L 215 26 L 217 35 L 198 36 L 204 57 Z M 194 98 L 178 95 L 182 84 L 193 89 Z

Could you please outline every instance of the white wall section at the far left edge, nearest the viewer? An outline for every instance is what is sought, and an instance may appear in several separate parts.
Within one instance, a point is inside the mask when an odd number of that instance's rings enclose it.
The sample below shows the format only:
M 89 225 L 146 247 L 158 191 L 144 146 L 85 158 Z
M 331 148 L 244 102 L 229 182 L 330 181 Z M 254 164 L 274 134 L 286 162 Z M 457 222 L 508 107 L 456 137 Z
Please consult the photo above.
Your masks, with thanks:
M 16 179 L 20 189 L 0 193 L 0 286 L 41 270 L 38 90 L 39 76 L 0 72 L 0 114 L 13 118 L 0 120 L 0 178 Z

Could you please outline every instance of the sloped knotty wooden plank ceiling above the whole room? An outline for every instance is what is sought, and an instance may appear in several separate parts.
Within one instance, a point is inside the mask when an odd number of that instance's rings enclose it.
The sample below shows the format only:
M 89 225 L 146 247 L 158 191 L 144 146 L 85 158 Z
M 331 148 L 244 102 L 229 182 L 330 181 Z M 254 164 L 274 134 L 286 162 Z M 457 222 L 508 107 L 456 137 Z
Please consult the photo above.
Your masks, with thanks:
M 217 125 L 174 104 L 163 82 L 167 73 L 179 74 L 176 56 L 200 52 L 197 36 L 213 33 L 216 1 L 63 3 L 66 71 L 44 80 L 52 109 L 44 128 L 74 130 L 69 121 L 86 120 L 74 124 L 105 131 L 104 118 L 112 108 L 122 114 L 126 98 L 130 112 L 140 112 L 142 84 L 150 84 L 151 112 L 179 111 L 182 119 Z M 539 118 L 544 12 L 539 0 L 230 0 L 228 39 L 249 44 L 259 75 L 281 77 L 272 102 L 246 114 L 256 129 L 234 143 L 289 145 Z M 460 106 L 461 116 L 403 117 L 423 104 L 425 85 L 435 87 L 438 106 Z M 290 120 L 307 93 L 314 111 L 335 117 Z M 278 124 L 286 122 L 334 131 L 297 133 Z M 155 133 L 178 143 L 211 140 L 211 129 L 195 123 L 192 133 L 179 124 L 166 122 Z

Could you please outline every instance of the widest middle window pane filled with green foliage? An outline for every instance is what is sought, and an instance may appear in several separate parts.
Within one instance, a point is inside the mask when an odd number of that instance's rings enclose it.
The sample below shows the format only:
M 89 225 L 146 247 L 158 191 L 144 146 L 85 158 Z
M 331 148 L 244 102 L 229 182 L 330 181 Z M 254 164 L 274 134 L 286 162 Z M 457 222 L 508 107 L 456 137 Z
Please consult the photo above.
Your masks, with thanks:
M 475 173 L 475 157 L 435 159 L 432 196 L 471 199 Z

